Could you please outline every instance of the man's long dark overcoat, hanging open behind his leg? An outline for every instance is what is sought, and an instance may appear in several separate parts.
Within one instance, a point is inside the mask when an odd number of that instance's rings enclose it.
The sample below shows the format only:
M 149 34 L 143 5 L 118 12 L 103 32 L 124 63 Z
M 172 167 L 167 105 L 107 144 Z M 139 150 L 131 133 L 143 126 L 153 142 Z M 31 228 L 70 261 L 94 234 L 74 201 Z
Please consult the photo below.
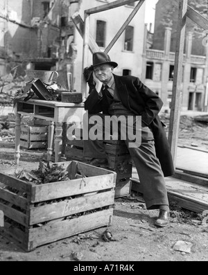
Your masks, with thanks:
M 164 123 L 160 121 L 158 116 L 163 105 L 162 100 L 135 76 L 114 75 L 114 80 L 123 105 L 135 115 L 141 116 L 141 121 L 153 131 L 155 151 L 162 166 L 164 177 L 173 175 L 174 166 L 170 146 L 164 132 Z M 89 92 L 85 101 L 85 109 L 88 110 L 89 114 L 99 112 L 107 114 L 109 107 L 107 98 L 99 96 L 94 87 L 91 87 Z

